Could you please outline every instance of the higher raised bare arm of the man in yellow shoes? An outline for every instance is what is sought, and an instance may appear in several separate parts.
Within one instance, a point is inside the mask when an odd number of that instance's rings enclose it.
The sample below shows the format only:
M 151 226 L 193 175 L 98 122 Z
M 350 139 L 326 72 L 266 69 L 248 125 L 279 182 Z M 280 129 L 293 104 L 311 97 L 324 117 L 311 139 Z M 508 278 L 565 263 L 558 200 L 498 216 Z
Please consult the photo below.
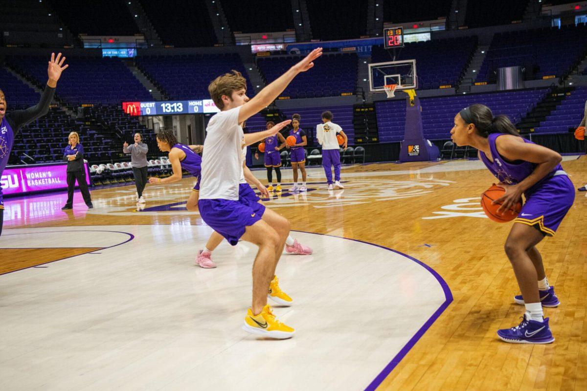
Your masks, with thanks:
M 271 102 L 286 89 L 288 84 L 294 80 L 294 77 L 296 77 L 298 73 L 306 72 L 306 70 L 311 69 L 314 66 L 313 61 L 320 56 L 322 56 L 322 47 L 312 50 L 312 52 L 301 60 L 301 62 L 292 66 L 287 72 L 259 91 L 254 98 L 242 105 L 238 113 L 238 123 L 242 123 L 242 121 L 247 120 L 253 115 L 259 113 L 259 111 L 263 110 L 265 107 L 269 106 L 269 104 L 271 104 Z

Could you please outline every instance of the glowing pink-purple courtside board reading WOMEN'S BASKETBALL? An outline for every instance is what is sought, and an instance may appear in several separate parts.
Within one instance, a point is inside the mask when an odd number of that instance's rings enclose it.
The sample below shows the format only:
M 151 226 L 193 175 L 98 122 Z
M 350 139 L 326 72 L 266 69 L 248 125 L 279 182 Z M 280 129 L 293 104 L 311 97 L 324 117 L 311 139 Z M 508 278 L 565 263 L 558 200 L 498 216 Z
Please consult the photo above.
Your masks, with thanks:
M 90 173 L 86 169 L 86 182 L 90 185 Z M 4 195 L 67 189 L 67 163 L 8 166 L 2 173 L 0 184 Z M 77 187 L 77 186 L 76 186 Z

